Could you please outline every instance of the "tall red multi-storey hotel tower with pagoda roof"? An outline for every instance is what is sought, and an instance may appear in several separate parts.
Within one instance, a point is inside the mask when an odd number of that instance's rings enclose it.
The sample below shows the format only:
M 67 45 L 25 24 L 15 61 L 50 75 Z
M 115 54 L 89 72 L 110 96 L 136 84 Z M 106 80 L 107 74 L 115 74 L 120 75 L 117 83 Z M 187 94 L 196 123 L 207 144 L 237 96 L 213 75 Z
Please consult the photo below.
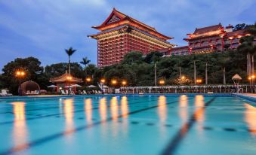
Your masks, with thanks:
M 126 53 L 140 51 L 143 55 L 153 50 L 171 48 L 174 44 L 168 42 L 171 37 L 162 35 L 155 28 L 147 26 L 113 8 L 112 13 L 100 26 L 97 39 L 97 66 L 104 67 L 122 61 Z

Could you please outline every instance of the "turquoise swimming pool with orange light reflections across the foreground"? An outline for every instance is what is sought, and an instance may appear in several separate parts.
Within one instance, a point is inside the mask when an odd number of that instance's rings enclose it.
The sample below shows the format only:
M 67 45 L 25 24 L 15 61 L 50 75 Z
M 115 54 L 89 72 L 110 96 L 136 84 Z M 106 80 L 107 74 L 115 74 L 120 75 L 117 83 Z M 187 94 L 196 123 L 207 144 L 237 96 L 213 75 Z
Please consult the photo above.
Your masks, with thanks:
M 0 154 L 255 154 L 255 107 L 226 94 L 0 99 Z

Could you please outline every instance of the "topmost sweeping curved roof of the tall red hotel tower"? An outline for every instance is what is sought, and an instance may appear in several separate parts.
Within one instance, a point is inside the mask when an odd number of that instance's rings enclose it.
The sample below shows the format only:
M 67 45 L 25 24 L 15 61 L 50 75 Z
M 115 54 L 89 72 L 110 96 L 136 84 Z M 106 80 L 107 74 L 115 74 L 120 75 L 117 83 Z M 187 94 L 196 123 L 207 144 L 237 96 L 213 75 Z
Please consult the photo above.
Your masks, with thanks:
M 105 32 L 106 30 L 122 25 L 131 25 L 137 27 L 138 29 L 142 29 L 143 31 L 150 33 L 151 35 L 162 38 L 165 41 L 172 38 L 162 35 L 162 33 L 157 32 L 155 28 L 148 26 L 147 24 L 141 23 L 140 21 L 135 20 L 126 14 L 122 14 L 121 12 L 117 11 L 116 8 L 113 8 L 113 11 L 111 14 L 109 14 L 109 17 L 107 17 L 100 26 L 92 26 L 92 28 Z

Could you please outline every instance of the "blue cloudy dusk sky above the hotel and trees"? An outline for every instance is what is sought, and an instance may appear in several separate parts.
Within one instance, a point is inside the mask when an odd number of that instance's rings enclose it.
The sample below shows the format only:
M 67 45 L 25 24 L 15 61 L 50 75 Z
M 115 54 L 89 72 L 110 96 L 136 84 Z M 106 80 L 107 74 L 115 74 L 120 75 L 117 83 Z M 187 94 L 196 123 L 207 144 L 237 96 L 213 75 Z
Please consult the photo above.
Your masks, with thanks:
M 186 45 L 196 27 L 256 21 L 255 0 L 0 0 L 0 68 L 17 57 L 35 56 L 42 65 L 67 62 L 64 49 L 77 50 L 72 62 L 97 62 L 97 33 L 113 8 Z

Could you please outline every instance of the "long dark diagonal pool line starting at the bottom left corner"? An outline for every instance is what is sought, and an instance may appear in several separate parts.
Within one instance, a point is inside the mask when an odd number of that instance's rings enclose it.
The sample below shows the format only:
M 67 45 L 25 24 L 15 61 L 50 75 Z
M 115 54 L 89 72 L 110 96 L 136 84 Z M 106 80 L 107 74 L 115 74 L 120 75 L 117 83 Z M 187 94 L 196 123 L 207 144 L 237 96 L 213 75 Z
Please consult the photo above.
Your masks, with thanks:
M 193 98 L 190 98 L 190 99 L 193 99 Z M 190 100 L 190 99 L 188 99 L 188 100 Z M 168 102 L 165 105 L 171 105 L 171 104 L 177 103 L 177 102 L 179 102 L 179 101 Z M 165 105 L 154 105 L 154 106 L 151 106 L 151 107 L 148 107 L 148 108 L 143 108 L 143 109 L 139 109 L 139 110 L 136 110 L 136 111 L 131 111 L 131 112 L 128 112 L 126 114 L 121 114 L 117 118 L 119 119 L 119 118 L 122 118 L 122 117 L 127 117 L 128 115 L 131 115 L 131 114 L 137 114 L 137 113 L 140 113 L 140 112 L 143 112 L 143 111 L 148 111 L 148 110 L 151 110 L 153 108 L 158 108 L 158 107 L 165 106 Z M 17 145 L 16 147 L 11 147 L 11 149 L 0 152 L 0 155 L 8 155 L 8 154 L 12 154 L 12 153 L 17 153 L 17 152 L 20 152 L 22 150 L 29 149 L 30 147 L 35 147 L 35 146 L 38 146 L 39 144 L 44 144 L 48 141 L 52 141 L 54 139 L 61 138 L 64 135 L 71 135 L 73 133 L 82 131 L 84 129 L 90 129 L 94 126 L 98 126 L 98 125 L 101 125 L 103 123 L 108 123 L 108 122 L 112 121 L 113 119 L 114 119 L 114 117 L 109 117 L 106 120 L 101 120 L 101 121 L 96 122 L 96 123 L 91 123 L 91 124 L 88 124 L 88 125 L 85 125 L 85 126 L 79 126 L 75 129 L 69 129 L 69 130 L 66 130 L 64 132 L 59 132 L 59 133 L 56 133 L 56 134 L 53 134 L 53 135 L 48 135 L 44 138 L 39 138 L 39 139 L 37 139 L 35 141 L 31 141 L 29 143 L 20 144 L 20 145 Z

